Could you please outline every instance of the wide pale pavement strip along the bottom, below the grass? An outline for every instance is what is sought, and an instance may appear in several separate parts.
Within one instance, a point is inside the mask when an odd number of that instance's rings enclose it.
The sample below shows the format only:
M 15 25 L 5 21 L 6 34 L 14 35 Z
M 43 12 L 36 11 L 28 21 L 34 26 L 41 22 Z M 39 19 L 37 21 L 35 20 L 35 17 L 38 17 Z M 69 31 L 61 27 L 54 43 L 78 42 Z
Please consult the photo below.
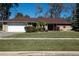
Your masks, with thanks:
M 79 51 L 1 51 L 0 56 L 79 56 Z

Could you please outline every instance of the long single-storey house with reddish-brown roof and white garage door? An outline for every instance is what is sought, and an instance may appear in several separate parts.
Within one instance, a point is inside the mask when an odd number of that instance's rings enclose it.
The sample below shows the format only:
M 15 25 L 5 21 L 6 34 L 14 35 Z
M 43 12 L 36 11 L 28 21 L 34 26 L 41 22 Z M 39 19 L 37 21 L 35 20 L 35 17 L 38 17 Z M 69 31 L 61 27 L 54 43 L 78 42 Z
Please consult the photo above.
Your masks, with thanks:
M 16 18 L 3 21 L 3 31 L 5 32 L 25 32 L 24 27 L 28 23 L 32 23 L 36 27 L 36 22 L 46 22 L 45 26 L 48 31 L 71 31 L 71 23 L 64 19 L 52 19 L 52 18 Z M 2 21 L 0 21 L 2 22 Z

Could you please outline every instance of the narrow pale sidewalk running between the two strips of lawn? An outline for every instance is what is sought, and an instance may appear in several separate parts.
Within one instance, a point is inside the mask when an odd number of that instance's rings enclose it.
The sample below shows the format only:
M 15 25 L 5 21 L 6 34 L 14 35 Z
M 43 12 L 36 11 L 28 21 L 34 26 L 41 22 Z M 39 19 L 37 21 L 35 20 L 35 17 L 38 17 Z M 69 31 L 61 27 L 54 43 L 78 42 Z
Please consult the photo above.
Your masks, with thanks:
M 79 38 L 0 38 L 0 40 L 79 40 Z

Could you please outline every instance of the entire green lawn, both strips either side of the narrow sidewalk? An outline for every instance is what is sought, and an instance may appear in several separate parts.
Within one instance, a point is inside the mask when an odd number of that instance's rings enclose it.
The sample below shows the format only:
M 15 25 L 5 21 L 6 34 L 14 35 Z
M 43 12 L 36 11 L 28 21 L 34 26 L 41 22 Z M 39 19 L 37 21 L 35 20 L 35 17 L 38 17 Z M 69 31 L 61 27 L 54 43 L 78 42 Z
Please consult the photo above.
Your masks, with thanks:
M 79 32 L 34 32 L 12 38 L 79 38 Z M 0 40 L 0 51 L 79 51 L 79 40 Z

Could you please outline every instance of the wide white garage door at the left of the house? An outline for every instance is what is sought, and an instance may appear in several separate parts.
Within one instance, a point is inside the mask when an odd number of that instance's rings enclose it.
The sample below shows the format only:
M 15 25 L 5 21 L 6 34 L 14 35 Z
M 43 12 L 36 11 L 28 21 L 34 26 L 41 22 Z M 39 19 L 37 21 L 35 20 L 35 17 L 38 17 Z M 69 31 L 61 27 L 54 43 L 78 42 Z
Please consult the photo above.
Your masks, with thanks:
M 24 27 L 25 26 L 12 26 L 12 25 L 9 25 L 8 26 L 8 32 L 25 32 L 24 30 Z

